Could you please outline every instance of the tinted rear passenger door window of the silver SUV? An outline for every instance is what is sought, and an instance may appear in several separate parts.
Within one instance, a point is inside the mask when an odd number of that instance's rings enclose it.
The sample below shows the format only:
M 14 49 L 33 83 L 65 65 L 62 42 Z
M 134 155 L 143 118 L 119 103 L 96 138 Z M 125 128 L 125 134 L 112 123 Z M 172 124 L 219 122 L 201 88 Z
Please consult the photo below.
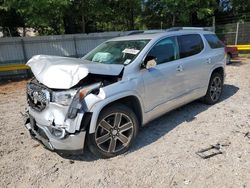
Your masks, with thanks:
M 198 54 L 204 48 L 202 38 L 198 34 L 181 35 L 177 39 L 180 48 L 180 58 Z

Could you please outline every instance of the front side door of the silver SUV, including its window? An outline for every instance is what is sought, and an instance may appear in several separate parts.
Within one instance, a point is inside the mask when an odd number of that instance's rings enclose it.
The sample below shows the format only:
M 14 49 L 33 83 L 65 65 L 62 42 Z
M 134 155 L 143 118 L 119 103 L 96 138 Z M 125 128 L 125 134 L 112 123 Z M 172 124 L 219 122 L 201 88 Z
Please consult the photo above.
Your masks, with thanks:
M 176 37 L 167 37 L 157 42 L 146 56 L 154 57 L 157 65 L 142 70 L 144 81 L 145 110 L 150 112 L 164 103 L 183 95 L 183 65 L 179 60 Z

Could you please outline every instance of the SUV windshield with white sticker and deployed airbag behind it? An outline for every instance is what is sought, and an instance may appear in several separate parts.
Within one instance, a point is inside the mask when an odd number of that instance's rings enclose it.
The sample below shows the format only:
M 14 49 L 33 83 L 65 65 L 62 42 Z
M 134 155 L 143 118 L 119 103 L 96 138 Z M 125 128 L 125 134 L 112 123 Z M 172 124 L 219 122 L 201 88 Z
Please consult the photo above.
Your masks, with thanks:
M 149 40 L 108 41 L 88 53 L 83 59 L 105 64 L 131 63 Z

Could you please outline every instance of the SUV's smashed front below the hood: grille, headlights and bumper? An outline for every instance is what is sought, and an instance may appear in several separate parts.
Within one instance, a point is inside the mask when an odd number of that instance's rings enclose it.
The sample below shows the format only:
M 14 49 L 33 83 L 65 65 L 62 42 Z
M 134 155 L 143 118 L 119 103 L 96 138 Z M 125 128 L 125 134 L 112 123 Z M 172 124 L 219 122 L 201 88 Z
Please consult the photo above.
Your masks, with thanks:
M 33 79 L 27 85 L 29 107 L 25 123 L 31 136 L 50 150 L 82 151 L 91 115 L 85 112 L 84 98 L 92 92 L 99 92 L 100 87 L 101 83 L 96 83 L 57 91 Z

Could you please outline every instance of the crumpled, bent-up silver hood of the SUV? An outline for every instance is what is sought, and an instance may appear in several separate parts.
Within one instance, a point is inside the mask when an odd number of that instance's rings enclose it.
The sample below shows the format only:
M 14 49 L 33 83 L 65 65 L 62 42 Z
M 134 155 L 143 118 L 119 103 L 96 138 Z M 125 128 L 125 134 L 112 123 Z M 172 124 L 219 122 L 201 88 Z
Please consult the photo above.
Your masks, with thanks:
M 69 89 L 89 73 L 117 76 L 123 65 L 92 63 L 83 59 L 37 55 L 27 64 L 36 79 L 53 89 Z

